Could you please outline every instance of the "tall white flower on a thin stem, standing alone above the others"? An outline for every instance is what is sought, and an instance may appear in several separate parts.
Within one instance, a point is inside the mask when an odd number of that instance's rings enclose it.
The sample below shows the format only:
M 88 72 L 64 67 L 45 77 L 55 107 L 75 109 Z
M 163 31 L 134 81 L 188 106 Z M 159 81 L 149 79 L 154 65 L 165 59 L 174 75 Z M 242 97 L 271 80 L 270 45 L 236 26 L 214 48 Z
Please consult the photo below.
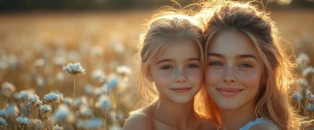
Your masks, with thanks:
M 79 75 L 79 74 L 85 74 L 85 69 L 81 66 L 80 62 L 76 62 L 74 64 L 69 63 L 67 64 L 67 66 L 63 66 L 63 70 L 65 72 L 71 73 L 74 77 L 73 77 L 73 82 L 74 82 L 74 88 L 73 88 L 73 100 L 72 100 L 72 105 L 71 105 L 71 109 L 73 109 L 73 104 L 74 104 L 74 98 L 75 98 L 75 87 L 76 87 L 76 79 L 75 79 L 75 75 Z

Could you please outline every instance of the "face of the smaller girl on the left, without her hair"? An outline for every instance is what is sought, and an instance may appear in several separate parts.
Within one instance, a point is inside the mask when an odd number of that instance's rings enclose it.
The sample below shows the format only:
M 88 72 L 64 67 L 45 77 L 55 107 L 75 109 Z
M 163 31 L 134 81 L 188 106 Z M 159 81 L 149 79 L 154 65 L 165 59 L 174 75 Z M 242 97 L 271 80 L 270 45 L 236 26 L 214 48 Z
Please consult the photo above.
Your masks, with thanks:
M 187 103 L 201 88 L 203 74 L 198 47 L 179 41 L 156 56 L 146 75 L 154 81 L 161 100 Z

